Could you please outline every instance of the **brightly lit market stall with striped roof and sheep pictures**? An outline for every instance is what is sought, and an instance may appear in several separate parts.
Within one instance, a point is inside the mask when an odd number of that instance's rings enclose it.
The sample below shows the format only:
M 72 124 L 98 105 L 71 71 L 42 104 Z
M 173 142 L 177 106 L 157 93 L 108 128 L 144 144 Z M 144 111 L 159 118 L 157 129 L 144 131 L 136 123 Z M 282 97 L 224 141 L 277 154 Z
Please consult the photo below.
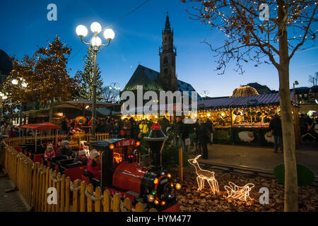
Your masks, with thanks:
M 290 100 L 293 100 L 290 93 Z M 299 143 L 298 105 L 292 105 L 295 140 Z M 249 145 L 273 145 L 269 122 L 280 111 L 278 93 L 247 97 L 222 97 L 198 102 L 198 118 L 210 119 L 216 126 L 213 141 Z

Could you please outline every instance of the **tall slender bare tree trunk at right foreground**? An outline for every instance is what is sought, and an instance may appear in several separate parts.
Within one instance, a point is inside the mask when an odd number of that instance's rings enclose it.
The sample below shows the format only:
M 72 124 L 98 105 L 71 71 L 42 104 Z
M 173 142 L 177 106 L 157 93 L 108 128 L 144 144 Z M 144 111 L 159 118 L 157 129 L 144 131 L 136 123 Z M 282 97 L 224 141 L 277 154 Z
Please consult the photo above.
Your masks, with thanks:
M 283 24 L 284 1 L 278 0 L 278 27 Z M 289 55 L 287 28 L 278 28 L 279 37 L 279 97 L 281 105 L 281 124 L 283 129 L 283 155 L 285 165 L 284 211 L 298 211 L 298 182 L 295 157 L 295 131 L 290 105 Z

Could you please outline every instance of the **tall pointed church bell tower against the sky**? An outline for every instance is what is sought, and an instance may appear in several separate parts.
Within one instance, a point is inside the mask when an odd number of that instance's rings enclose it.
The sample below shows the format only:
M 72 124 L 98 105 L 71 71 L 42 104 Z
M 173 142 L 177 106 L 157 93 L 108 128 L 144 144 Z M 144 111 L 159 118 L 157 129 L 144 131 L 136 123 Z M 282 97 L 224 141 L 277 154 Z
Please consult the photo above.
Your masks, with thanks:
M 165 85 L 166 90 L 172 92 L 177 90 L 177 76 L 175 73 L 175 57 L 177 49 L 173 45 L 173 30 L 170 29 L 169 16 L 165 20 L 163 30 L 163 46 L 159 47 L 160 56 L 160 81 Z

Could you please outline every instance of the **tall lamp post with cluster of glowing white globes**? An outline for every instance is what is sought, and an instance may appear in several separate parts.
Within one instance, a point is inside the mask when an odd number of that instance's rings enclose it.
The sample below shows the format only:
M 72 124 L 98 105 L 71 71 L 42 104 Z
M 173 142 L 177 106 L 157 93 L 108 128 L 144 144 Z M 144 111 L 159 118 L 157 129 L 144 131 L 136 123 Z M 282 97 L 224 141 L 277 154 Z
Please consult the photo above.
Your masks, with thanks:
M 76 27 L 76 34 L 81 37 L 83 44 L 87 44 L 94 52 L 94 72 L 93 72 L 93 100 L 92 100 L 92 133 L 90 136 L 90 143 L 95 143 L 95 121 L 96 121 L 96 68 L 97 68 L 97 53 L 100 47 L 105 47 L 110 44 L 110 41 L 114 39 L 114 31 L 110 28 L 104 30 L 104 37 L 108 41 L 107 44 L 102 44 L 102 40 L 98 37 L 98 34 L 102 32 L 102 26 L 100 23 L 94 22 L 90 25 L 90 30 L 94 33 L 94 36 L 90 39 L 90 42 L 84 42 L 83 37 L 88 35 L 88 29 L 84 25 L 78 25 Z

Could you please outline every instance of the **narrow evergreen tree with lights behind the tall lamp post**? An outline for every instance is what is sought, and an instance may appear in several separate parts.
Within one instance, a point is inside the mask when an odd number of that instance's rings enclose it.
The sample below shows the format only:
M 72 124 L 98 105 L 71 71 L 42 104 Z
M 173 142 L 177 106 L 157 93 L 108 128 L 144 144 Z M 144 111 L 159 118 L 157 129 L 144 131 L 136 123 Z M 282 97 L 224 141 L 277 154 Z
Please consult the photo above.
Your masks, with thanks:
M 81 87 L 78 89 L 78 99 L 93 100 L 93 75 L 94 75 L 94 51 L 87 49 L 84 57 L 85 66 L 83 71 L 77 71 L 76 76 L 81 78 Z M 96 100 L 102 100 L 102 78 L 100 68 L 96 67 Z

